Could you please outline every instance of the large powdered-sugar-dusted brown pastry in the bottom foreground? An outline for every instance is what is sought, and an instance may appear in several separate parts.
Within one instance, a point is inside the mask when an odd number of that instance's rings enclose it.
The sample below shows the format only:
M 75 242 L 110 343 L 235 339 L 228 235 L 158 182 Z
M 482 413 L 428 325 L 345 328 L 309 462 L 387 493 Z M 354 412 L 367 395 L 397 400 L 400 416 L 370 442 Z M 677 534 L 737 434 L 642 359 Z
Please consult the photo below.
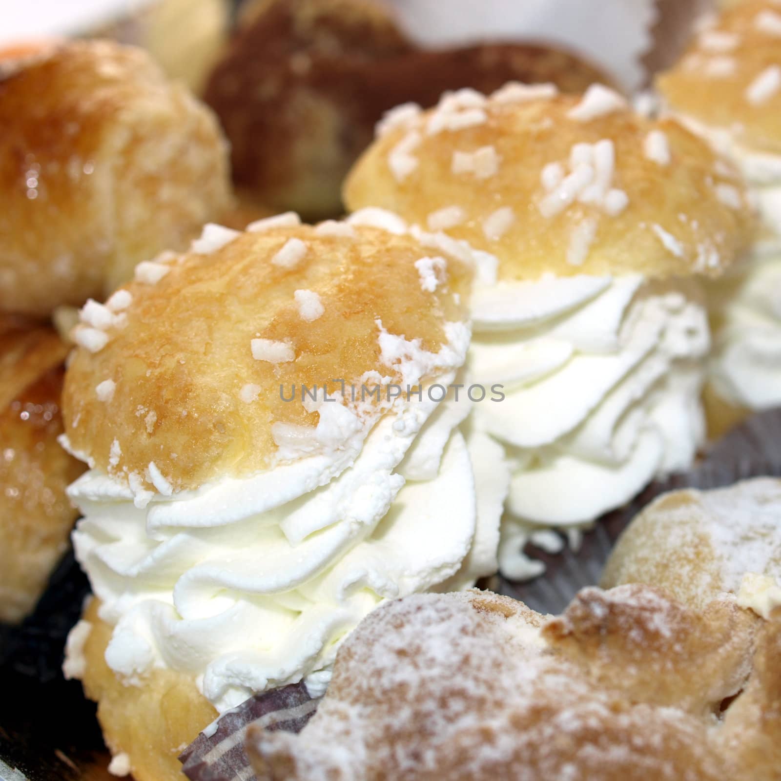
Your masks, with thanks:
M 352 633 L 301 733 L 251 726 L 248 753 L 258 781 L 771 781 L 779 644 L 778 614 L 644 586 L 583 590 L 553 619 L 415 595 Z

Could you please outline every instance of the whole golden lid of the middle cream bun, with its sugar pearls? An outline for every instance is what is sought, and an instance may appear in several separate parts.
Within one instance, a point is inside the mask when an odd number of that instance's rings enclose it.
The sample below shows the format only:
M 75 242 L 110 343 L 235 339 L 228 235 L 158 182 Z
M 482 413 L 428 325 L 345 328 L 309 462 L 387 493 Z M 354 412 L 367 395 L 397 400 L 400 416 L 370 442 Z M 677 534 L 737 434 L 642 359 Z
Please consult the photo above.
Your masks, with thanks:
M 573 97 L 508 85 L 398 109 L 344 196 L 348 209 L 392 209 L 497 255 L 504 280 L 715 276 L 754 226 L 733 168 L 604 87 Z

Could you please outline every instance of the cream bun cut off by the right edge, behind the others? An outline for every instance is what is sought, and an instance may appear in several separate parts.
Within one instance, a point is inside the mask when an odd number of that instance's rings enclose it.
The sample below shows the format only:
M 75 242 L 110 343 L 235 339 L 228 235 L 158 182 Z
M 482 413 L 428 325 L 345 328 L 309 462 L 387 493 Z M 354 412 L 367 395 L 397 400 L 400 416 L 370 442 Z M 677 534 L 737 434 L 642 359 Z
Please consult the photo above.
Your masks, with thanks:
M 781 5 L 751 0 L 715 16 L 658 89 L 741 169 L 761 213 L 751 264 L 711 291 L 708 423 L 719 435 L 781 405 Z M 733 202 L 733 192 L 722 198 Z

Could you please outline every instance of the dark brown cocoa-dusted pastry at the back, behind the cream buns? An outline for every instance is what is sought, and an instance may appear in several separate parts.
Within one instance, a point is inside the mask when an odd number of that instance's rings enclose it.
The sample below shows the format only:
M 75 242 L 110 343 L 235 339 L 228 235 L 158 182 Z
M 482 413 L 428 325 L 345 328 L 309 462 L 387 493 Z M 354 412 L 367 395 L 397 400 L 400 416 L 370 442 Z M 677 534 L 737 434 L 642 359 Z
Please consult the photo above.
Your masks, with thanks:
M 380 3 L 263 0 L 209 79 L 205 99 L 231 143 L 234 179 L 276 209 L 341 212 L 340 188 L 383 113 L 430 106 L 458 87 L 511 79 L 580 91 L 601 74 L 550 48 L 421 52 Z

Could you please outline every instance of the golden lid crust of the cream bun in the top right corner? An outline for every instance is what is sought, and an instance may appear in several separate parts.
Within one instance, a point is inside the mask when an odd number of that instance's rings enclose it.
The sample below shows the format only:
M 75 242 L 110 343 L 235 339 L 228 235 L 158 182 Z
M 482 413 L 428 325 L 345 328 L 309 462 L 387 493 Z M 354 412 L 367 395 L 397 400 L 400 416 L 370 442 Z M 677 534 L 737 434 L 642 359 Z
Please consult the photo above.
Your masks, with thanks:
M 657 87 L 671 109 L 730 130 L 757 151 L 779 154 L 781 90 L 759 103 L 747 99 L 748 88 L 761 73 L 781 67 L 781 37 L 758 26 L 761 13 L 781 19 L 781 8 L 772 0 L 745 0 L 723 12 L 714 27 L 695 38 L 683 59 L 658 77 Z M 735 36 L 735 46 L 725 52 L 708 48 L 708 36 L 714 33 Z M 729 63 L 732 72 L 713 75 L 714 61 L 718 66 L 719 60 Z

